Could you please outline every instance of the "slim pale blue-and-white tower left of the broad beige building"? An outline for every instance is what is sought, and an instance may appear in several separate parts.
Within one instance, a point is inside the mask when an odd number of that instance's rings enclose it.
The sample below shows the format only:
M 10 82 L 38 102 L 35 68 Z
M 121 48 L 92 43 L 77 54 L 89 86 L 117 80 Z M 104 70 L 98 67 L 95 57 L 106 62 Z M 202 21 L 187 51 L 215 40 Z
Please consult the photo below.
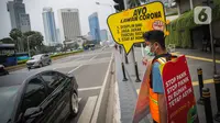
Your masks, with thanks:
M 54 19 L 54 12 L 52 8 L 43 9 L 43 22 L 44 22 L 44 33 L 45 33 L 45 44 L 55 45 L 57 44 L 57 33 L 56 24 Z

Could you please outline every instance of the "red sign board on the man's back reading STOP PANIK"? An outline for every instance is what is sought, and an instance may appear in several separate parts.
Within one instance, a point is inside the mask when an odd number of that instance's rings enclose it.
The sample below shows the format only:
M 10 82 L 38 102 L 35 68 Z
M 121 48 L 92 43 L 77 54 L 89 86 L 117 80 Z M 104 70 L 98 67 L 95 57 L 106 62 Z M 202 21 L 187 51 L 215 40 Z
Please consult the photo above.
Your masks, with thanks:
M 176 69 L 178 68 L 178 69 Z M 196 101 L 186 57 L 160 67 L 167 107 L 167 123 L 195 123 Z

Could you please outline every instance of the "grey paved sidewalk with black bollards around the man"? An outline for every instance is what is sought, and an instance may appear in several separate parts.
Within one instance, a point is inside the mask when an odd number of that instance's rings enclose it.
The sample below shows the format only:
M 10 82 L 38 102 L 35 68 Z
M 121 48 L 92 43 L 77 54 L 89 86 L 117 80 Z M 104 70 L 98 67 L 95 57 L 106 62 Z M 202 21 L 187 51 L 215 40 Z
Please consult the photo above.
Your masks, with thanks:
M 142 55 L 141 55 L 141 48 L 135 48 L 135 60 L 138 62 L 138 67 L 139 67 L 139 75 L 140 79 L 143 78 L 143 74 L 145 72 L 145 66 L 142 65 Z M 201 57 L 204 56 L 205 53 L 199 53 L 198 51 L 190 51 L 190 49 L 177 49 L 179 54 L 187 54 L 191 56 L 197 56 Z M 190 54 L 193 53 L 193 54 Z M 206 58 L 211 58 L 211 55 L 207 54 L 205 55 Z M 219 57 L 219 56 L 218 56 Z M 121 72 L 121 65 L 120 65 L 120 59 L 121 56 L 119 52 L 116 52 L 116 64 L 118 64 L 117 67 L 117 72 Z M 219 58 L 220 59 L 220 58 Z M 212 79 L 212 63 L 211 62 L 204 62 L 204 60 L 198 60 L 198 59 L 190 59 L 187 58 L 187 63 L 189 66 L 191 79 L 194 81 L 194 93 L 196 97 L 196 101 L 200 98 L 199 96 L 199 87 L 198 87 L 198 77 L 197 77 L 197 68 L 201 67 L 204 69 L 204 80 L 210 80 Z M 135 89 L 139 91 L 141 82 L 135 82 L 135 74 L 133 72 L 133 67 L 134 65 L 132 63 L 124 64 L 125 65 L 125 70 L 127 70 L 127 77 L 129 81 L 122 81 L 122 75 L 121 77 L 118 78 L 118 83 L 119 83 L 119 98 L 120 98 L 120 105 L 121 105 L 121 122 L 122 123 L 130 123 L 124 121 L 124 118 L 132 119 L 132 114 L 134 111 L 135 107 L 135 101 L 136 101 L 136 92 L 133 90 Z M 220 64 L 217 64 L 217 69 L 220 69 Z M 133 87 L 132 87 L 133 86 Z M 212 107 L 212 115 L 217 113 L 217 103 L 216 103 L 216 92 L 215 92 L 215 85 L 213 83 L 207 83 L 205 85 L 205 88 L 210 89 L 211 93 L 211 107 Z M 120 91 L 121 90 L 121 91 Z M 131 91 L 132 90 L 132 91 Z M 132 93 L 133 92 L 133 93 Z M 134 98 L 134 99 L 128 99 L 128 98 Z M 129 101 L 132 100 L 132 101 Z M 130 105 L 130 107 L 128 107 Z M 134 105 L 134 107 L 133 107 Z M 124 113 L 124 110 L 129 113 Z M 130 111 L 129 111 L 130 110 Z M 199 115 L 199 121 L 200 123 L 206 123 L 206 115 L 205 115 L 205 109 L 204 105 L 198 105 L 197 104 L 197 110 L 198 110 L 198 115 Z M 218 123 L 213 121 L 215 123 Z

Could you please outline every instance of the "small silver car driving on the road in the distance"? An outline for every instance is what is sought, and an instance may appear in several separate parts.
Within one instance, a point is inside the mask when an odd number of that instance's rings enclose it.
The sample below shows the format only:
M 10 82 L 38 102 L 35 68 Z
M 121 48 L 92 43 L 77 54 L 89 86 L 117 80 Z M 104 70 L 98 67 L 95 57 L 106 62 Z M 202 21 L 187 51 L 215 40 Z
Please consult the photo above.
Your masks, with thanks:
M 43 67 L 46 65 L 51 65 L 52 59 L 50 58 L 50 55 L 47 54 L 40 54 L 31 57 L 30 60 L 26 62 L 28 69 L 36 68 L 36 67 Z

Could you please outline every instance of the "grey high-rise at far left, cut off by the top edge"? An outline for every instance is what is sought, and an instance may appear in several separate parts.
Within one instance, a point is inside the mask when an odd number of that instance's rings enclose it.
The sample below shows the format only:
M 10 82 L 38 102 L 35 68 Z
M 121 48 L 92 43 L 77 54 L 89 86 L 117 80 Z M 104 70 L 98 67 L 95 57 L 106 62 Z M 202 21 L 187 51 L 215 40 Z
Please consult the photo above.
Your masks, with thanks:
M 19 29 L 21 32 L 31 31 L 30 16 L 26 14 L 23 0 L 9 1 L 7 9 L 11 19 L 11 29 Z

